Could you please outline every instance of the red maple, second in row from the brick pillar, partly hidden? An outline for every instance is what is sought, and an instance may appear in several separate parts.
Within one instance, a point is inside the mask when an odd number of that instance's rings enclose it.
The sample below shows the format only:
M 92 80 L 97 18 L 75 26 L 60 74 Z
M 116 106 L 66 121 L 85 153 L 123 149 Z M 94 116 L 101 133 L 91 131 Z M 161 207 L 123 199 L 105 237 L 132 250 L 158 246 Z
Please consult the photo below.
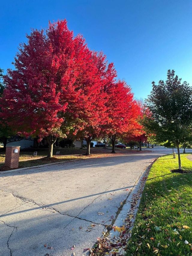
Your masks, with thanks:
M 107 92 L 105 88 L 116 77 L 113 63 L 107 63 L 103 53 L 92 53 L 94 72 L 84 80 L 79 100 L 81 107 L 78 107 L 78 123 L 74 126 L 74 133 L 77 138 L 86 140 L 86 155 L 90 155 L 90 142 L 100 137 L 103 132 L 103 125 L 106 124 L 107 116 Z M 69 104 L 70 105 L 70 104 Z M 68 105 L 68 106 L 69 106 Z M 71 107 L 75 107 L 74 104 Z M 80 122 L 79 122 L 80 119 Z

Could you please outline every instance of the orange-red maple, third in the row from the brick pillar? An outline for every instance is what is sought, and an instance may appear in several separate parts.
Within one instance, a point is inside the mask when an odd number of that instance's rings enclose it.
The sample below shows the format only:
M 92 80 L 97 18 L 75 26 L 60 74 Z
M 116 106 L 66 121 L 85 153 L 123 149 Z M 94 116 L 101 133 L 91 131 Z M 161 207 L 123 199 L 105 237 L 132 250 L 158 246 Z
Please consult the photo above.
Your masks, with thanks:
M 131 92 L 131 87 L 125 81 L 111 83 L 107 88 L 108 95 L 107 125 L 104 126 L 105 133 L 112 141 L 112 152 L 115 153 L 116 139 L 123 137 L 124 134 L 137 134 L 140 125 L 140 106 Z

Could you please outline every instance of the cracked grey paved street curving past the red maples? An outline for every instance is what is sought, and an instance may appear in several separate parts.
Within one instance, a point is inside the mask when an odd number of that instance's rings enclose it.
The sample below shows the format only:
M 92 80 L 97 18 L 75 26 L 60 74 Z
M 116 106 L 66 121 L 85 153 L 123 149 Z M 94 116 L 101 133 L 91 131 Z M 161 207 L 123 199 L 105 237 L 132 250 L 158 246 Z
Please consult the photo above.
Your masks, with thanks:
M 146 166 L 171 152 L 158 148 L 0 173 L 0 255 L 86 255 L 84 248 L 112 223 Z

